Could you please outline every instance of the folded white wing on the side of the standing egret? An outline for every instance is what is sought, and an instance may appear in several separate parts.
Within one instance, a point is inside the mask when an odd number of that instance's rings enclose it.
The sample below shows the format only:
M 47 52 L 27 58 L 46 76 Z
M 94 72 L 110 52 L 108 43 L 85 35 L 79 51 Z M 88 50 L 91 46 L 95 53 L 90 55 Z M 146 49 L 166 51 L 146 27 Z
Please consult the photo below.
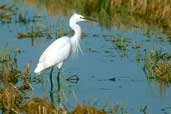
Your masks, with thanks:
M 71 41 L 69 37 L 61 37 L 55 40 L 40 56 L 39 64 L 46 64 L 47 67 L 64 61 L 70 54 Z

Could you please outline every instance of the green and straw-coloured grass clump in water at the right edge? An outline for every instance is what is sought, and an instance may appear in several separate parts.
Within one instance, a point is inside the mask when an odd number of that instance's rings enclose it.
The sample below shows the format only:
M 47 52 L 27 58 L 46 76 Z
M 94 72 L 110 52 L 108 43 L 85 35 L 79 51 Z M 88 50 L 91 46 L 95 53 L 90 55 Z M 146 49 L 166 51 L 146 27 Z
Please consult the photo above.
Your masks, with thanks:
M 144 72 L 148 79 L 156 79 L 171 83 L 171 55 L 153 50 L 146 54 Z

